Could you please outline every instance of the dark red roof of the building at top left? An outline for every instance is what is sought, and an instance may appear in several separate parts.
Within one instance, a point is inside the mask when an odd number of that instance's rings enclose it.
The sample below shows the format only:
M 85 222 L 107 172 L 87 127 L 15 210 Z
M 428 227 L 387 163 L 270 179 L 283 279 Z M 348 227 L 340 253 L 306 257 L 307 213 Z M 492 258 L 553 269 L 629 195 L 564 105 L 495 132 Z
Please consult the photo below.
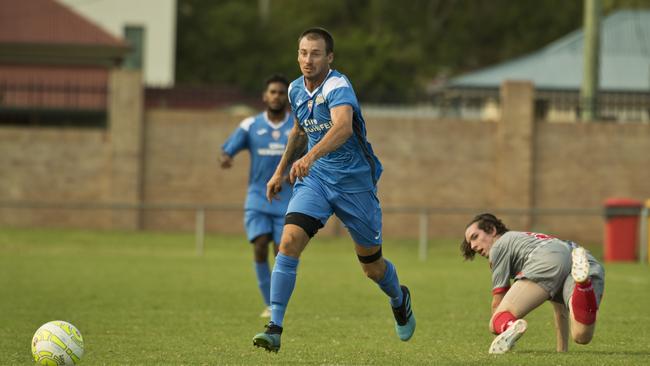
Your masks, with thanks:
M 0 0 L 0 44 L 126 44 L 54 0 Z

